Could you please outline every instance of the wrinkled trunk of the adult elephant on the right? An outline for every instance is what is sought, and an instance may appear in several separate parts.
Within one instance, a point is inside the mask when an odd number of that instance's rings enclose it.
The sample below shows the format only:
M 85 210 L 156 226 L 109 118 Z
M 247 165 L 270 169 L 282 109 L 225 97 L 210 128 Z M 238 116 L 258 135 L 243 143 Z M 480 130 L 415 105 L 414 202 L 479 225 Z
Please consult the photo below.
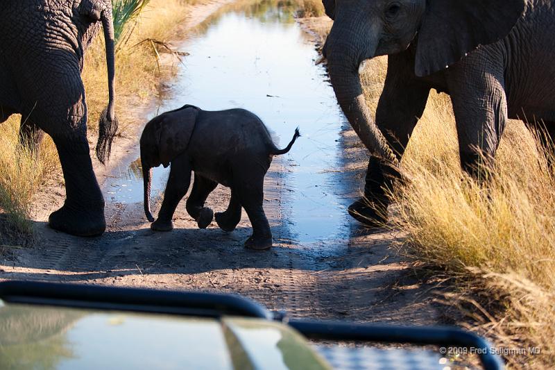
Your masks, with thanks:
M 364 58 L 373 56 L 375 49 L 357 49 L 356 43 L 348 40 L 353 35 L 343 33 L 341 30 L 332 29 L 324 47 L 328 72 L 330 72 L 337 101 L 345 113 L 345 117 L 370 153 L 398 167 L 397 157 L 387 144 L 382 131 L 379 131 L 370 115 L 368 106 L 366 106 L 359 78 L 359 63 Z M 343 41 L 343 39 L 345 40 Z

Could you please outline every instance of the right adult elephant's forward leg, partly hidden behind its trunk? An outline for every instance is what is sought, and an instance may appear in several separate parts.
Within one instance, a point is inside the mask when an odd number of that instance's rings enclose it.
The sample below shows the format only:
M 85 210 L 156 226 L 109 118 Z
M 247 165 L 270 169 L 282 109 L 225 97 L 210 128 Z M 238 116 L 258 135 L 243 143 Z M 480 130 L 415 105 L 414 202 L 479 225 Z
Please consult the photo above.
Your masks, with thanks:
M 404 54 L 389 56 L 384 90 L 376 110 L 376 124 L 400 160 L 418 119 L 426 108 L 429 86 L 413 77 L 413 62 Z M 379 227 L 387 221 L 388 194 L 399 172 L 383 160 L 370 156 L 364 196 L 348 212 L 365 226 Z

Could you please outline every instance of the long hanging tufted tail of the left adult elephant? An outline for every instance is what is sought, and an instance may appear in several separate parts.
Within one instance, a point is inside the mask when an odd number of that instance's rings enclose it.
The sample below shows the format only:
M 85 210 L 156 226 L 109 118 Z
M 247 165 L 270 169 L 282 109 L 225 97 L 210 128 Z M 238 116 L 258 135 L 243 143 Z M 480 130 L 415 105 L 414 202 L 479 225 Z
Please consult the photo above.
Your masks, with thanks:
M 108 68 L 108 106 L 102 112 L 99 121 L 99 141 L 96 143 L 96 157 L 104 165 L 110 159 L 112 141 L 117 132 L 118 121 L 116 117 L 115 80 L 116 80 L 116 56 L 114 47 L 114 24 L 112 22 L 112 7 L 108 6 L 101 15 L 102 28 L 106 46 L 106 67 Z

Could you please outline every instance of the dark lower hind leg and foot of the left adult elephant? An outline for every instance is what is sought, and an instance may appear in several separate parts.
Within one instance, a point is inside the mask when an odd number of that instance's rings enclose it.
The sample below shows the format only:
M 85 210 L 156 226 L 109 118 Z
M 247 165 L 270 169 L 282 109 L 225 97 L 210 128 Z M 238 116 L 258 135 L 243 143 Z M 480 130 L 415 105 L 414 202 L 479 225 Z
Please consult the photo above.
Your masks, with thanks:
M 106 228 L 104 199 L 92 169 L 85 133 L 53 137 L 65 179 L 66 200 L 49 217 L 51 228 L 71 235 L 101 235 Z

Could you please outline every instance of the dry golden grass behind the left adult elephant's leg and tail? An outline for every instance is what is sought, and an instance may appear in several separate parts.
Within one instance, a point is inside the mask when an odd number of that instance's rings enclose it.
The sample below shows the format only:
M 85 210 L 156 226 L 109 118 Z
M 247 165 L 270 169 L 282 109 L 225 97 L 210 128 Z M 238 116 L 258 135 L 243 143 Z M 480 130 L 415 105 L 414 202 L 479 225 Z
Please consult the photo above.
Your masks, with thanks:
M 135 44 L 149 39 L 167 42 L 176 27 L 187 17 L 191 3 L 198 2 L 151 0 L 138 22 L 132 25 L 133 33 L 126 43 L 119 45 L 116 59 L 116 106 L 121 121 L 120 132 L 126 131 L 126 125 L 130 123 L 127 117 L 137 103 L 151 99 L 157 93 L 160 81 L 171 74 L 169 69 L 158 68 L 151 42 Z M 89 133 L 96 136 L 99 115 L 108 103 L 108 76 L 102 33 L 87 50 L 82 77 L 89 108 Z M 32 234 L 33 227 L 29 219 L 33 196 L 51 178 L 51 174 L 61 171 L 56 147 L 49 137 L 45 137 L 42 142 L 38 160 L 35 160 L 33 153 L 17 145 L 19 120 L 19 116 L 13 116 L 0 126 L 0 208 L 6 214 L 6 220 L 1 222 L 0 244 L 21 243 L 25 238 L 20 235 Z

